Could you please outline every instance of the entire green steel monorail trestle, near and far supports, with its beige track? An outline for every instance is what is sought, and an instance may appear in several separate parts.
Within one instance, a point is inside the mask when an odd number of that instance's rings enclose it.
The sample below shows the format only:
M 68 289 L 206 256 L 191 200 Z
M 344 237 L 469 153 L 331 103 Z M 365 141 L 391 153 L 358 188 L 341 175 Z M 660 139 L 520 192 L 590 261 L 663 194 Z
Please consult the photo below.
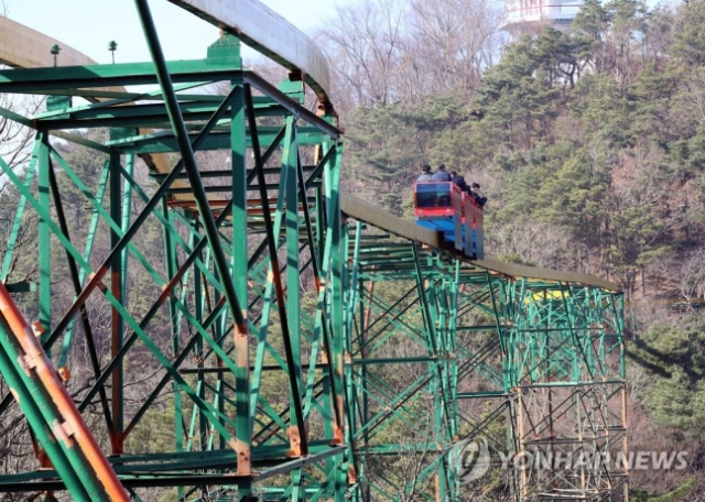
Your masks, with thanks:
M 26 165 L 0 160 L 17 194 L 0 423 L 21 413 L 36 457 L 0 493 L 628 500 L 617 286 L 470 262 L 340 194 L 313 43 L 283 20 L 273 36 L 254 0 L 174 3 L 224 29 L 203 59 L 164 61 L 144 0 L 147 63 L 94 64 L 2 21 L 26 40 L 0 50 L 14 67 L 0 92 L 47 100 L 31 118 L 0 109 L 35 134 Z M 289 78 L 243 68 L 242 42 Z M 93 129 L 107 133 L 75 132 Z M 57 141 L 101 156 L 98 174 Z M 73 225 L 67 197 L 90 221 Z M 36 279 L 17 280 L 19 262 Z

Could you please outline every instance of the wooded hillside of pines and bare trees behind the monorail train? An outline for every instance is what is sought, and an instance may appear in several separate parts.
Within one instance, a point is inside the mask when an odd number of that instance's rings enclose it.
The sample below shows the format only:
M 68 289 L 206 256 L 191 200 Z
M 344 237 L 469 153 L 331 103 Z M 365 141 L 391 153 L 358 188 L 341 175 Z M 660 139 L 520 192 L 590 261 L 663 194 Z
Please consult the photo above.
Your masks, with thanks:
M 699 500 L 685 480 L 705 452 L 705 1 L 587 0 L 570 32 L 513 43 L 490 6 L 370 0 L 321 33 L 346 189 L 409 216 L 420 166 L 444 163 L 486 189 L 492 257 L 618 282 L 631 448 L 685 448 L 692 469 L 632 487 Z

